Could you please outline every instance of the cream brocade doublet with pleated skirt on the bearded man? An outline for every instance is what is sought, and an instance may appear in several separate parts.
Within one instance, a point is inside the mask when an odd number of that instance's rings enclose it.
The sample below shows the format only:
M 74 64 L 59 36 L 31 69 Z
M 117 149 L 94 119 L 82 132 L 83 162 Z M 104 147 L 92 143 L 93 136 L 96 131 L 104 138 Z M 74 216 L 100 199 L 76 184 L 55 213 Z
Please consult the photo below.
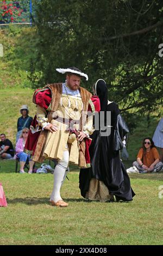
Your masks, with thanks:
M 78 90 L 72 92 L 71 91 L 72 90 L 66 87 L 65 94 L 65 84 L 62 85 L 61 99 L 57 111 L 53 113 L 53 118 L 60 117 L 66 119 L 80 120 L 83 110 L 82 98 Z M 73 95 L 70 95 L 68 93 L 73 93 Z M 37 121 L 39 121 L 39 124 L 43 127 L 48 122 L 47 118 L 45 117 L 46 111 L 40 106 L 36 106 L 36 108 Z M 84 126 L 85 133 L 87 133 L 87 135 L 93 132 L 92 119 L 92 116 L 89 117 L 89 120 L 87 119 L 87 123 Z M 67 147 L 67 140 L 70 131 L 67 131 L 68 125 L 61 123 L 60 121 L 52 119 L 51 123 L 57 126 L 58 130 L 56 132 L 48 131 L 43 156 L 45 158 L 62 160 L 63 152 L 65 150 L 69 150 Z M 74 124 L 73 128 L 79 130 L 79 124 Z M 90 130 L 90 132 L 88 130 Z M 69 162 L 78 165 L 78 159 L 79 145 L 77 139 L 75 139 L 74 142 L 71 144 Z

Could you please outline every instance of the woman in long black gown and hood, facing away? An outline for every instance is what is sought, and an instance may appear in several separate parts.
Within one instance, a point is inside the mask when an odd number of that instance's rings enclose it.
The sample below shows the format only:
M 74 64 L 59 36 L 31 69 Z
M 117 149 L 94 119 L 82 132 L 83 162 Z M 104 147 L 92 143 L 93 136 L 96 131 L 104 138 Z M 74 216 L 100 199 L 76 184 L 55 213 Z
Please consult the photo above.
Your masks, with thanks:
M 110 102 L 104 80 L 99 79 L 94 86 L 99 97 L 101 111 L 99 113 L 99 129 L 93 132 L 90 145 L 91 167 L 80 169 L 79 188 L 82 196 L 101 202 L 131 201 L 135 193 L 131 189 L 130 179 L 123 162 L 120 150 L 123 148 L 123 137 L 129 132 L 115 102 Z M 111 114 L 110 135 L 105 134 L 101 124 L 108 126 L 106 112 Z M 102 118 L 101 112 L 104 113 Z M 108 121 L 108 120 L 107 120 Z

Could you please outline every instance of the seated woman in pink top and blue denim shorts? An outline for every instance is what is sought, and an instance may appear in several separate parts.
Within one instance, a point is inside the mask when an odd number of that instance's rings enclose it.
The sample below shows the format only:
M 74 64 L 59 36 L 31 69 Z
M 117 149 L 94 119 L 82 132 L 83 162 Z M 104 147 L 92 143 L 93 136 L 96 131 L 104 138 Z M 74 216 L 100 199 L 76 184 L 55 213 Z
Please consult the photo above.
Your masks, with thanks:
M 30 160 L 30 155 L 27 155 L 26 153 L 23 152 L 24 145 L 26 144 L 26 141 L 27 141 L 28 133 L 29 133 L 29 129 L 25 127 L 22 130 L 20 139 L 18 139 L 18 141 L 16 143 L 15 152 L 16 152 L 16 156 L 18 157 L 18 159 L 20 159 L 20 173 L 25 173 L 24 165 L 28 159 L 28 161 L 29 161 L 29 172 L 28 173 L 30 174 L 33 171 L 34 161 Z

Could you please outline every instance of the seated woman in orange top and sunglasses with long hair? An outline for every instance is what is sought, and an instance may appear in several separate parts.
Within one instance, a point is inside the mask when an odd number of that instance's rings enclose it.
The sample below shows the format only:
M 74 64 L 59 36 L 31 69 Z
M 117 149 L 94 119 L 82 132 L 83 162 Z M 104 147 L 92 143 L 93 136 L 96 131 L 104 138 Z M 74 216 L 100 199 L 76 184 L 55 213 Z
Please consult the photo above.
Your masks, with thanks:
M 137 160 L 133 162 L 140 173 L 159 172 L 163 168 L 158 150 L 155 148 L 152 138 L 143 139 L 142 148 L 139 150 Z

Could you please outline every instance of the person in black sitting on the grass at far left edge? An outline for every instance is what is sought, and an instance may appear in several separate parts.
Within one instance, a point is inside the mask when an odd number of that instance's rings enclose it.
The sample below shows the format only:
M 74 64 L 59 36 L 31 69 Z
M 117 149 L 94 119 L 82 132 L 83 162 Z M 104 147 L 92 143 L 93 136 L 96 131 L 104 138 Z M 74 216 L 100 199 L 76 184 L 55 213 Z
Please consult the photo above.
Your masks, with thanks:
M 5 137 L 4 133 L 0 135 L 0 157 L 1 159 L 13 159 L 14 147 L 12 142 Z

